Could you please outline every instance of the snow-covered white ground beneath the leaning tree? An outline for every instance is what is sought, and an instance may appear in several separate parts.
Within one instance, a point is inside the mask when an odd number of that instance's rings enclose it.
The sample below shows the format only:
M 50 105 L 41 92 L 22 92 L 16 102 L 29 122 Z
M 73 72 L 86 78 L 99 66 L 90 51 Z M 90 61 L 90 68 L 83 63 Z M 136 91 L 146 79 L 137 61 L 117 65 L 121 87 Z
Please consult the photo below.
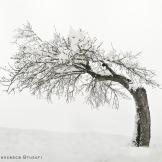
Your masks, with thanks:
M 0 162 L 161 162 L 162 138 L 150 148 L 134 148 L 130 139 L 104 133 L 57 133 L 0 128 Z M 158 141 L 160 143 L 158 143 Z M 39 160 L 2 160 L 1 156 L 42 156 Z

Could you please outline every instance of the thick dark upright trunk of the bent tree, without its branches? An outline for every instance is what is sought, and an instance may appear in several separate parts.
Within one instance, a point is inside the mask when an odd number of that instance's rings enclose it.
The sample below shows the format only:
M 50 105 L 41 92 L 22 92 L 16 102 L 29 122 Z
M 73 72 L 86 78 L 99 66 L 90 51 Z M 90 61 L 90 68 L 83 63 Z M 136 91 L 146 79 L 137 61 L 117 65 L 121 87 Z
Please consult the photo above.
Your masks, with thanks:
M 142 87 L 131 92 L 136 104 L 136 127 L 133 143 L 135 146 L 149 146 L 150 143 L 150 111 L 146 90 Z

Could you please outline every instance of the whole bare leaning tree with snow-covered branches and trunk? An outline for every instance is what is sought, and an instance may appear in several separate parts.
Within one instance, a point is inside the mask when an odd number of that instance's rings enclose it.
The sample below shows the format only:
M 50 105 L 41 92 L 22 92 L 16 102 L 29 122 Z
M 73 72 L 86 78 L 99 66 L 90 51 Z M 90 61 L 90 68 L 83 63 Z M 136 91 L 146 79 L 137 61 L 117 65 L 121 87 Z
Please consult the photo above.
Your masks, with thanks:
M 17 30 L 15 38 L 13 65 L 5 69 L 9 76 L 1 79 L 8 93 L 29 89 L 34 95 L 51 99 L 54 94 L 67 101 L 83 94 L 93 107 L 108 103 L 116 108 L 118 98 L 130 93 L 136 104 L 133 143 L 149 146 L 151 121 L 144 87 L 159 85 L 153 80 L 154 72 L 137 62 L 139 53 L 118 52 L 113 47 L 106 53 L 102 43 L 82 30 L 72 30 L 67 38 L 55 31 L 51 41 L 44 41 L 29 23 Z

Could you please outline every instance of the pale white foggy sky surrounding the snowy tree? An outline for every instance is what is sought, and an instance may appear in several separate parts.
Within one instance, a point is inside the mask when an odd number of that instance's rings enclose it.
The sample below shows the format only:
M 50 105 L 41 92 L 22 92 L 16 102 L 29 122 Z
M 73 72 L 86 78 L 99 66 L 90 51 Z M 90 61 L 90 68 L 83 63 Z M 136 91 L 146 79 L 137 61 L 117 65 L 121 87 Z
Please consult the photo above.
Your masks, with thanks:
M 52 38 L 54 26 L 67 35 L 69 27 L 82 28 L 118 50 L 142 51 L 141 62 L 155 69 L 162 81 L 162 1 L 161 0 L 1 0 L 0 66 L 14 54 L 9 42 L 13 30 L 29 21 L 44 39 Z M 152 131 L 162 134 L 162 92 L 148 90 Z M 134 128 L 134 103 L 122 101 L 120 109 L 107 105 L 100 110 L 76 101 L 52 104 L 28 93 L 0 93 L 0 127 L 36 128 L 59 131 L 100 130 L 131 135 Z

